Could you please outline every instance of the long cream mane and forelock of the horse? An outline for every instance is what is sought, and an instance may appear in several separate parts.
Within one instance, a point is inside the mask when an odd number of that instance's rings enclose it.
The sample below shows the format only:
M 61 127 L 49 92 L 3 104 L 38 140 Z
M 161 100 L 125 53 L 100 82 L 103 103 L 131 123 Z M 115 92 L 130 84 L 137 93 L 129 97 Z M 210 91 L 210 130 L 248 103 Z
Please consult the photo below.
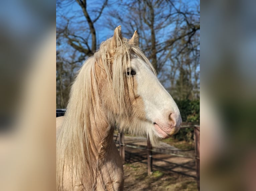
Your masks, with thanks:
M 113 127 L 120 115 L 128 115 L 124 71 L 127 66 L 131 67 L 132 55 L 142 59 L 156 74 L 141 50 L 130 44 L 125 38 L 121 46 L 116 49 L 111 48 L 111 39 L 103 42 L 95 55 L 90 57 L 80 69 L 72 85 L 66 117 L 56 140 L 57 188 L 63 187 L 64 168 L 69 169 L 70 174 L 74 174 L 75 177 L 72 176 L 72 179 L 86 177 L 88 182 L 94 181 L 97 168 L 97 155 L 95 155 L 97 145 L 94 144 L 92 137 L 97 130 L 92 131 L 90 127 L 95 120 L 108 123 Z M 103 108 L 100 107 L 101 95 L 99 94 L 96 65 L 104 71 L 107 76 L 105 80 L 113 87 L 112 100 L 109 101 L 113 104 L 117 103 L 116 113 L 119 113 L 118 116 L 109 113 L 107 118 L 102 118 L 97 112 Z M 136 124 L 135 121 L 134 124 Z M 121 129 L 126 128 L 125 121 L 118 125 Z M 142 128 L 132 128 L 131 130 L 139 131 L 139 129 Z M 154 140 L 154 135 L 150 130 L 146 133 L 151 140 Z

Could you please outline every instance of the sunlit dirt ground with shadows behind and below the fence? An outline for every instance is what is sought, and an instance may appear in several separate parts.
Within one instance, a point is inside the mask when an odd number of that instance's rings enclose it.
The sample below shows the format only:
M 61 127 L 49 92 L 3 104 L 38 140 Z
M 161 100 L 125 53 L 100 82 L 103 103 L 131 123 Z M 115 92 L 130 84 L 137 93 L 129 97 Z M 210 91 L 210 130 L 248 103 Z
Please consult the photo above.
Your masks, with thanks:
M 127 137 L 125 144 L 146 145 L 144 137 Z M 119 146 L 117 144 L 117 146 Z M 194 151 L 179 149 L 161 142 L 160 148 L 193 157 Z M 125 191 L 196 191 L 195 159 L 153 152 L 153 173 L 147 174 L 147 151 L 125 147 Z

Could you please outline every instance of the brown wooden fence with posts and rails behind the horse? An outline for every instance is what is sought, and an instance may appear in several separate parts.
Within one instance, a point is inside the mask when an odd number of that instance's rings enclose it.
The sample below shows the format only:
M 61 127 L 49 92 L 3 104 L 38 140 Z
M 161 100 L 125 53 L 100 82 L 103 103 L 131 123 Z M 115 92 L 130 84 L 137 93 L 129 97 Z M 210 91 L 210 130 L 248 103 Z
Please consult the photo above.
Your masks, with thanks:
M 194 128 L 197 186 L 198 186 L 198 190 L 200 190 L 200 125 L 195 125 L 192 123 L 182 123 L 180 128 Z M 118 139 L 119 139 L 119 152 L 120 152 L 120 156 L 123 161 L 125 161 L 125 147 L 147 150 L 148 175 L 152 174 L 152 165 L 153 165 L 153 154 L 152 153 L 153 152 L 160 152 L 160 153 L 170 154 L 170 155 L 174 155 L 174 156 L 178 156 L 178 157 L 191 158 L 189 156 L 180 155 L 180 154 L 176 154 L 176 153 L 166 153 L 164 151 L 164 149 L 159 150 L 157 148 L 153 148 L 150 143 L 149 137 L 147 137 L 147 147 L 146 148 L 143 146 L 140 146 L 140 145 L 125 144 L 123 132 L 118 133 Z

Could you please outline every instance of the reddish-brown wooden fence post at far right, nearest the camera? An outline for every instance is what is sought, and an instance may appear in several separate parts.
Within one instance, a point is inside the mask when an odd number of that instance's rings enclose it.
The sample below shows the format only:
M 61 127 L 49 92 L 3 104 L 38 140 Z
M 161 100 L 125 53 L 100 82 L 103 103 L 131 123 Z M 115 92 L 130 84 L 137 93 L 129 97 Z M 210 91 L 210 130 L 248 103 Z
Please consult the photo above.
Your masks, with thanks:
M 197 187 L 200 190 L 200 126 L 195 125 L 195 152 L 196 152 L 196 171 L 197 171 Z

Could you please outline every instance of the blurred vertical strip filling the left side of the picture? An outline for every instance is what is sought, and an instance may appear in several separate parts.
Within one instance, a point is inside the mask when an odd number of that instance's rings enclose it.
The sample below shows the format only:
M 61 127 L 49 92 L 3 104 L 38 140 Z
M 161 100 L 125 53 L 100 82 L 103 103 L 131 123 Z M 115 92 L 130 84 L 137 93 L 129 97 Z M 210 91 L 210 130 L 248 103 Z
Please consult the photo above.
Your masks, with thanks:
M 55 2 L 0 2 L 0 190 L 55 189 Z

